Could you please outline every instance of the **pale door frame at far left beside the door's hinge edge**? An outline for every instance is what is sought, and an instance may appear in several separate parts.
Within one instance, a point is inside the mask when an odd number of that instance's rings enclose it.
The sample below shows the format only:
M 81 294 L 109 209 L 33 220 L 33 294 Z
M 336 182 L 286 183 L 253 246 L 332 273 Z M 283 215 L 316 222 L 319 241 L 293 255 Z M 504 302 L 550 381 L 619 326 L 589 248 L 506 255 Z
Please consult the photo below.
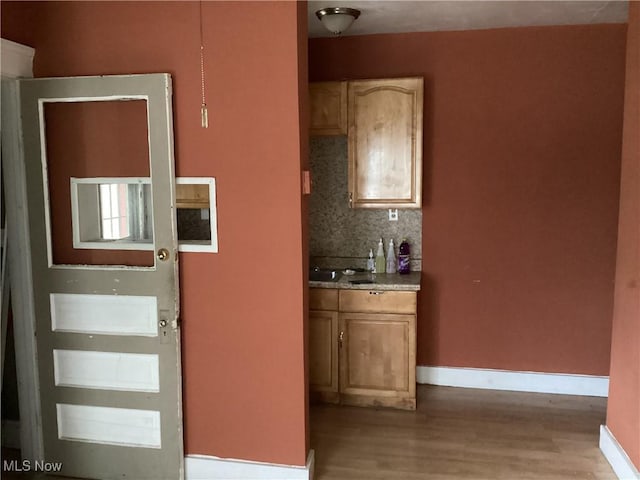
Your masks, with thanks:
M 9 53 L 9 54 L 7 54 Z M 31 273 L 31 237 L 27 212 L 27 179 L 19 122 L 18 78 L 33 77 L 35 50 L 2 39 L 2 159 L 7 215 L 9 280 L 20 409 L 22 458 L 44 458 L 42 414 L 35 337 L 35 303 Z

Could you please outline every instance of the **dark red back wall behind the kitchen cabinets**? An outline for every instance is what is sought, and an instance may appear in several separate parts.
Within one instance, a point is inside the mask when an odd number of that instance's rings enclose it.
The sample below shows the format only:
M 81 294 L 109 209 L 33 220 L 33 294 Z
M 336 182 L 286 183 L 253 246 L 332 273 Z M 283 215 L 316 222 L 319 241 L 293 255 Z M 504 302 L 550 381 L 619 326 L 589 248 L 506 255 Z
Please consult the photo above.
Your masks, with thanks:
M 625 29 L 310 41 L 311 81 L 424 76 L 420 365 L 608 374 Z

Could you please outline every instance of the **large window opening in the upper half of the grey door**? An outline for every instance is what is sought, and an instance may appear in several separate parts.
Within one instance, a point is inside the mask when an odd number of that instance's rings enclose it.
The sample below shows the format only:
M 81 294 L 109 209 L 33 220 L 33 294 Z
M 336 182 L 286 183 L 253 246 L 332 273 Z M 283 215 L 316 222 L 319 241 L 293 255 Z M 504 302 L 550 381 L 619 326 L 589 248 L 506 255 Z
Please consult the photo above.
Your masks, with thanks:
M 43 117 L 53 264 L 153 266 L 146 101 L 46 102 Z

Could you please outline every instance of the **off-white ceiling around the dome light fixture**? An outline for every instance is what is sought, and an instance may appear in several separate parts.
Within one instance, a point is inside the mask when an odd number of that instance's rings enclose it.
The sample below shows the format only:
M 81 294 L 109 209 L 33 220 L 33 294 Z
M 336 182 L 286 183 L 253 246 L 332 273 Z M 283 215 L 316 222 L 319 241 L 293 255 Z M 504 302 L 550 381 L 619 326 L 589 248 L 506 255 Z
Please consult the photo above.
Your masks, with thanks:
M 373 33 L 478 30 L 542 25 L 625 23 L 627 1 L 405 1 L 309 0 L 309 37 L 332 36 L 315 16 L 324 7 L 350 7 L 361 11 L 342 35 Z

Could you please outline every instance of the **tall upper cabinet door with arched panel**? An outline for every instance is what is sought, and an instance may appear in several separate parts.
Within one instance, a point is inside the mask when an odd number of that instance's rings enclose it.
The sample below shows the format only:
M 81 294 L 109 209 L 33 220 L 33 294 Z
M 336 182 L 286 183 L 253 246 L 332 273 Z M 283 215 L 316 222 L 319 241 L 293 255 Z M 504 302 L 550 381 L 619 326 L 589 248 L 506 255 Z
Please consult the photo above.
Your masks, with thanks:
M 349 82 L 354 208 L 422 206 L 422 78 Z

